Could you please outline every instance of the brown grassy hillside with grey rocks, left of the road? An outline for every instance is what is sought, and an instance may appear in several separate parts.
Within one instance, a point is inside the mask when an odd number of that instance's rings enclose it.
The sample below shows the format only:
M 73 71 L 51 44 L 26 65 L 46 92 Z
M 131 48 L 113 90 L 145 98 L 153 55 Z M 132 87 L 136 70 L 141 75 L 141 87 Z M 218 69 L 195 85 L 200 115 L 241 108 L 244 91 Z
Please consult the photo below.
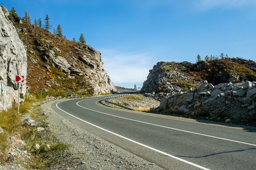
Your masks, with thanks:
M 89 94 L 116 91 L 99 51 L 24 21 L 14 25 L 27 49 L 27 85 L 32 90 Z

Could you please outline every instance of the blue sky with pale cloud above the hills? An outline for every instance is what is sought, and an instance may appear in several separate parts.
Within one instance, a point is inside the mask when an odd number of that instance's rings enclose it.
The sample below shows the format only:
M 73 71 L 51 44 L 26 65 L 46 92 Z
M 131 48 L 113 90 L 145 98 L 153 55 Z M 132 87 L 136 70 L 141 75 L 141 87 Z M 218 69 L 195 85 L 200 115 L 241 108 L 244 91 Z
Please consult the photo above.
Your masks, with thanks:
M 158 61 L 196 62 L 197 54 L 256 60 L 256 0 L 0 0 L 60 24 L 67 39 L 101 52 L 115 85 L 142 86 Z

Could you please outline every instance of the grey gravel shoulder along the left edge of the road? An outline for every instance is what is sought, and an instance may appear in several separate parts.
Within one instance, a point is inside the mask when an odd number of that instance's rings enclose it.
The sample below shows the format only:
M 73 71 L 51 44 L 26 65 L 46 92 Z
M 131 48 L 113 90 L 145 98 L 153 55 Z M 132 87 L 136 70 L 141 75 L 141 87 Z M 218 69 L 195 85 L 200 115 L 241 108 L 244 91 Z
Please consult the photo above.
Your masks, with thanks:
M 48 116 L 49 128 L 54 136 L 63 143 L 70 144 L 70 155 L 63 156 L 61 164 L 52 170 L 163 170 L 137 155 L 123 150 L 57 114 L 51 104 L 41 105 Z

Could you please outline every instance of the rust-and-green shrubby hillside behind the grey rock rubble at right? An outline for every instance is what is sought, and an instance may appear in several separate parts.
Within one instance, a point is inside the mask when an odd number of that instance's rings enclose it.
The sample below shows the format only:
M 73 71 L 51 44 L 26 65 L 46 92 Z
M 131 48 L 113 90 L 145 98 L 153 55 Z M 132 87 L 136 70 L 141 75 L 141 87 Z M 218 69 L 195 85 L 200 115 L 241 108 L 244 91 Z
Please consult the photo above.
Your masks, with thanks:
M 141 92 L 175 95 L 195 88 L 203 80 L 213 85 L 239 83 L 242 80 L 256 81 L 256 62 L 240 58 L 201 61 L 196 64 L 158 62 L 149 70 Z

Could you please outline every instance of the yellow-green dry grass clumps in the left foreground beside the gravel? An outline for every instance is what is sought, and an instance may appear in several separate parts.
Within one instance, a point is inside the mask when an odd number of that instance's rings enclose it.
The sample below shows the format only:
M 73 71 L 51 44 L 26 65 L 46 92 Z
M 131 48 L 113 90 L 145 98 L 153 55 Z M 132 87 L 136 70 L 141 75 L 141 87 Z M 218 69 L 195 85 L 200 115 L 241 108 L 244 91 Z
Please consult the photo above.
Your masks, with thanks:
M 38 104 L 35 104 L 38 103 Z M 5 164 L 8 161 L 9 148 L 12 141 L 11 136 L 15 136 L 17 139 L 21 139 L 26 143 L 24 150 L 32 153 L 31 160 L 19 162 L 26 166 L 28 169 L 45 170 L 51 165 L 55 165 L 59 162 L 58 157 L 67 158 L 69 155 L 65 150 L 69 145 L 58 142 L 54 135 L 45 130 L 38 132 L 36 127 L 24 127 L 21 123 L 21 118 L 28 114 L 32 119 L 39 123 L 40 127 L 47 128 L 48 123 L 44 120 L 47 118 L 42 114 L 39 108 L 40 101 L 35 99 L 29 99 L 28 101 L 20 103 L 20 114 L 18 114 L 17 105 L 13 105 L 12 108 L 7 111 L 0 112 L 0 127 L 4 129 L 4 133 L 0 134 L 0 162 Z M 35 148 L 36 143 L 40 145 L 39 149 Z

